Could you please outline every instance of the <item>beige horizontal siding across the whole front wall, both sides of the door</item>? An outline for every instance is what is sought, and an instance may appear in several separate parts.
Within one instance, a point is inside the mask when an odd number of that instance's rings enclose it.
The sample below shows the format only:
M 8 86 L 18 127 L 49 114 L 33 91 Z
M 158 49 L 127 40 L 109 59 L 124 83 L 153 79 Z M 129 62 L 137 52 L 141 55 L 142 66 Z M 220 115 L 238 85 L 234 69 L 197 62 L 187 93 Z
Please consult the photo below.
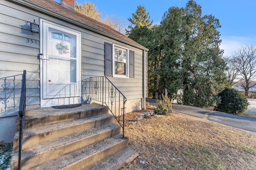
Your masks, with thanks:
M 22 74 L 23 70 L 27 70 L 27 108 L 40 107 L 40 101 L 38 100 L 40 98 L 40 89 L 38 88 L 40 86 L 40 60 L 38 58 L 40 34 L 24 34 L 22 33 L 22 27 L 26 23 L 29 25 L 34 20 L 39 24 L 40 19 L 81 32 L 82 80 L 90 76 L 104 76 L 105 42 L 121 45 L 134 51 L 134 78 L 108 78 L 128 100 L 143 97 L 142 72 L 144 70 L 142 70 L 143 51 L 141 49 L 125 45 L 104 35 L 78 27 L 78 25 L 67 23 L 65 20 L 58 20 L 8 1 L 0 1 L 0 9 L 0 78 Z M 42 32 L 43 30 L 40 30 L 40 33 Z M 30 31 L 27 33 L 30 33 Z M 31 43 L 32 41 L 33 43 Z M 15 96 L 14 101 L 18 100 L 19 96 Z

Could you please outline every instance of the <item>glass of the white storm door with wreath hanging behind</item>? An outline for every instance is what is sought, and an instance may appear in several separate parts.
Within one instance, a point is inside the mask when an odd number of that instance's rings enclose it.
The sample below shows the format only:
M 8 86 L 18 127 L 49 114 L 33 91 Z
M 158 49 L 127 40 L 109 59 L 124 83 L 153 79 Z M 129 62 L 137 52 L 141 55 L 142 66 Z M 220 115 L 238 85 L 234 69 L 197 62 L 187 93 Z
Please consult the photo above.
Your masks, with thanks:
M 74 83 L 76 75 L 76 35 L 60 32 L 49 28 L 50 39 L 48 39 L 48 59 L 47 71 L 52 75 L 51 83 Z M 64 41 L 62 41 L 64 40 Z

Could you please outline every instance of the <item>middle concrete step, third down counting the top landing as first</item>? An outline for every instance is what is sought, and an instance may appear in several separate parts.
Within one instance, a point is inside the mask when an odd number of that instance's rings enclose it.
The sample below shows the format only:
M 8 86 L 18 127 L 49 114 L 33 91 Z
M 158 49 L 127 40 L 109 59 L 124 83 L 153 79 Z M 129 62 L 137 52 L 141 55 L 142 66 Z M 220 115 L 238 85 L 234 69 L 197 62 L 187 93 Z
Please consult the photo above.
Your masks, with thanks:
M 61 137 L 52 141 L 27 147 L 22 150 L 22 169 L 31 169 L 32 167 L 37 166 L 38 164 L 44 164 L 45 162 L 53 163 L 51 160 L 66 157 L 66 155 L 70 155 L 70 153 L 72 152 L 78 152 L 77 150 L 86 150 L 85 147 L 88 147 L 89 145 L 92 145 L 94 143 L 104 143 L 102 141 L 106 141 L 108 140 L 108 138 L 118 134 L 120 134 L 120 126 L 116 123 L 111 123 L 108 125 L 102 125 L 100 127 L 90 129 L 88 131 L 83 131 L 80 133 L 68 135 L 66 137 Z M 112 143 L 114 142 L 112 141 Z M 93 146 L 94 145 L 89 147 L 90 149 L 95 150 Z M 70 160 L 66 161 L 69 162 Z M 11 167 L 17 166 L 18 151 L 13 153 L 11 162 Z M 39 169 L 41 170 L 42 168 Z

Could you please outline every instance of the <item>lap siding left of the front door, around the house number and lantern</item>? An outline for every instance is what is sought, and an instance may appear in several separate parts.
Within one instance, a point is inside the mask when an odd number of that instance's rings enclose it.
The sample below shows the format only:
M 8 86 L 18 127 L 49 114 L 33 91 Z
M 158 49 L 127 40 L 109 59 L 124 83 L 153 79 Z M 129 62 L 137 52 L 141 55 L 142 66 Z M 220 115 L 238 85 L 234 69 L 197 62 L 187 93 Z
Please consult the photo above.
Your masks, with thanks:
M 12 7 L 9 7 L 13 6 Z M 16 8 L 16 9 L 15 9 Z M 29 13 L 21 6 L 16 6 L 6 1 L 0 2 L 0 90 L 3 91 L 4 78 L 17 74 L 26 74 L 26 108 L 40 107 L 39 92 L 39 34 L 22 29 L 34 21 L 39 23 L 38 17 Z M 18 9 L 18 10 L 17 10 Z M 26 11 L 26 10 L 25 10 Z M 10 79 L 10 78 L 6 78 Z M 0 117 L 17 115 L 21 92 L 21 76 L 15 77 L 15 82 L 6 80 L 10 95 L 0 96 Z M 14 82 L 14 83 L 13 83 Z M 5 102 L 3 102 L 5 101 Z

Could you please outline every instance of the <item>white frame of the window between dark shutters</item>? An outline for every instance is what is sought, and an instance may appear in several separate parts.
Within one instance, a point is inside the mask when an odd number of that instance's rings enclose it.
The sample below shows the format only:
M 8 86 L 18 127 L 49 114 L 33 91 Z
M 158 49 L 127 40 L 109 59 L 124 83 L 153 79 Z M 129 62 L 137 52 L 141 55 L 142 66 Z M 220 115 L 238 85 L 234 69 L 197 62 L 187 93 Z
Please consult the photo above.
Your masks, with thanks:
M 119 74 L 115 74 L 115 47 L 117 47 L 118 49 L 123 49 L 123 50 L 126 50 L 126 75 L 119 75 Z M 112 60 L 113 60 L 113 63 L 112 63 L 112 74 L 113 74 L 113 77 L 120 77 L 120 78 L 129 78 L 129 49 L 126 48 L 126 47 L 123 47 L 121 45 L 117 45 L 117 44 L 112 44 Z

